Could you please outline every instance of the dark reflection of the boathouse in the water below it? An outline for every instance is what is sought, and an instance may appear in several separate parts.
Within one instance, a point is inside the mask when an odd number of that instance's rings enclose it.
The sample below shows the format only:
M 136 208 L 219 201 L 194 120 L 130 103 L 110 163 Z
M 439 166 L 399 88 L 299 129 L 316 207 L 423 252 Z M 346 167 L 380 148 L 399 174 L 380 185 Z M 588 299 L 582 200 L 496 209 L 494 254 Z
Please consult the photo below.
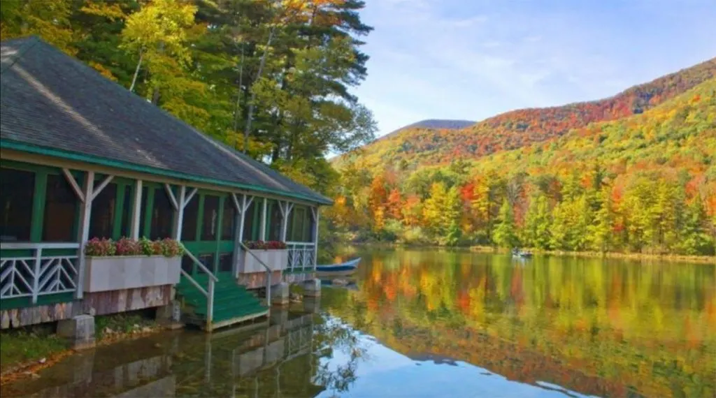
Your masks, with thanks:
M 326 389 L 321 381 L 339 377 L 325 374 L 325 348 L 314 347 L 316 329 L 326 329 L 318 307 L 306 301 L 301 312 L 274 310 L 265 322 L 213 334 L 168 332 L 101 347 L 3 387 L 2 396 L 315 397 Z

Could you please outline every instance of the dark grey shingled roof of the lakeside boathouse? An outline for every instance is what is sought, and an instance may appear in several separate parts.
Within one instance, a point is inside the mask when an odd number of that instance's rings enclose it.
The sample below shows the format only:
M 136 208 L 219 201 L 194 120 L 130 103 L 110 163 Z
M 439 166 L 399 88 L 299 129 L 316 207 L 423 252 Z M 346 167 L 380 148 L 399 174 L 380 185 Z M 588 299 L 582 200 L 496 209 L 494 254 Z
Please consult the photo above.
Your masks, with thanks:
M 3 149 L 332 203 L 34 36 L 0 43 L 0 87 Z

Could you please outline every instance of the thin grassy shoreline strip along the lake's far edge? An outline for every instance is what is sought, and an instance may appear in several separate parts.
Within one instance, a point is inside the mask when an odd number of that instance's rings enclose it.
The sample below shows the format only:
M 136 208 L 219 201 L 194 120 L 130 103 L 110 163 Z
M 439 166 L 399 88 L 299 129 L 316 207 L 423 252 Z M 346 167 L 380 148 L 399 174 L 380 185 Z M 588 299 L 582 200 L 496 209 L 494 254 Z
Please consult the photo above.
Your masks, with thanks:
M 445 247 L 432 244 L 402 244 L 395 242 L 362 242 L 362 243 L 349 243 L 349 245 L 355 247 L 377 247 L 377 248 L 390 248 L 390 249 L 441 249 L 441 250 L 463 250 L 470 252 L 479 253 L 493 253 L 493 254 L 507 254 L 509 249 L 498 249 L 490 246 L 456 246 L 456 247 Z M 564 257 L 589 257 L 589 258 L 609 258 L 609 259 L 628 259 L 628 260 L 657 260 L 661 262 L 684 262 L 692 264 L 710 264 L 716 265 L 716 256 L 690 256 L 685 254 L 651 254 L 651 253 L 621 253 L 621 252 L 563 252 L 560 250 L 539 250 L 525 248 L 533 252 L 534 254 L 551 255 L 551 256 L 564 256 Z

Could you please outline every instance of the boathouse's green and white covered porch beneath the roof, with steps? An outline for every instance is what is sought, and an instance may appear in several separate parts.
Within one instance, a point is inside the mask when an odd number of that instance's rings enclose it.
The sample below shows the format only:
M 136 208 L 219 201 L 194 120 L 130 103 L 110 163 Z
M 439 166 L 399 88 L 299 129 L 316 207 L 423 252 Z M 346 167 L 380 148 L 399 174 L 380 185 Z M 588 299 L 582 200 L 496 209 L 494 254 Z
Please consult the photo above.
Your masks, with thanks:
M 213 316 L 231 316 L 227 306 L 246 303 L 233 319 L 264 316 L 272 285 L 314 278 L 318 207 L 300 199 L 10 150 L 0 185 L 2 328 L 165 307 L 175 294 L 205 307 L 194 320 L 207 327 L 231 321 Z M 138 286 L 91 286 L 87 242 L 123 237 L 180 242 L 179 283 L 142 274 Z M 285 248 L 248 249 L 258 241 Z M 234 287 L 243 290 L 217 291 Z M 253 289 L 266 289 L 269 302 Z

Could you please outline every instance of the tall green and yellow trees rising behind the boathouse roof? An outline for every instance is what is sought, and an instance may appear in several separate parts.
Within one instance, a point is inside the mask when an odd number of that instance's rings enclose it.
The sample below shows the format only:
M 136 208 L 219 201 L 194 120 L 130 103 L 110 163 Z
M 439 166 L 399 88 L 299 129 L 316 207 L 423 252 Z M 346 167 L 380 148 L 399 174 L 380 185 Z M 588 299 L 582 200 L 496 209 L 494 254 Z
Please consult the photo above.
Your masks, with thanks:
M 200 131 L 332 194 L 324 159 L 373 139 L 362 0 L 0 1 L 37 35 Z M 98 93 L 102 95 L 102 93 Z M 321 181 L 318 184 L 317 181 Z

